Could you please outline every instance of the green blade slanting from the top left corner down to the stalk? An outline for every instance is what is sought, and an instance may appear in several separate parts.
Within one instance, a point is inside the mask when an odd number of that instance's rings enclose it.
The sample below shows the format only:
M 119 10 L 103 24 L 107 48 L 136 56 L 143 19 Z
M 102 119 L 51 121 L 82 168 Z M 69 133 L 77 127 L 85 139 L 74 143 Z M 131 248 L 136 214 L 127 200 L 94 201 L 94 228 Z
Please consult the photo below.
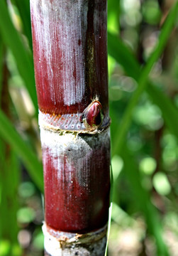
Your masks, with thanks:
M 11 18 L 9 16 L 9 11 L 7 9 L 4 0 L 0 1 L 0 33 L 1 38 L 11 49 L 14 58 L 16 59 L 16 64 L 18 66 L 18 71 L 26 83 L 26 87 L 30 94 L 33 105 L 35 106 L 36 114 L 38 114 L 38 103 L 35 92 L 35 78 L 33 70 L 33 58 L 30 53 L 24 47 L 16 28 L 14 28 Z

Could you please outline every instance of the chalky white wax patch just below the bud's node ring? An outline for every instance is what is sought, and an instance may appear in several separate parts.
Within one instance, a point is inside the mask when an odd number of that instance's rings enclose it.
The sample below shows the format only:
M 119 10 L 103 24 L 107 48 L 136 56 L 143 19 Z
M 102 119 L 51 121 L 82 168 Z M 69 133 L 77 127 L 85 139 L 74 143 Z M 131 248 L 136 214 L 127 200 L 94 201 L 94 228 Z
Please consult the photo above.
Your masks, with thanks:
M 48 126 L 43 119 L 39 118 L 40 125 L 40 140 L 43 149 L 43 166 L 45 174 L 45 161 L 48 161 L 50 155 L 52 166 L 57 170 L 57 177 L 60 180 L 62 178 L 61 168 L 64 166 L 65 159 L 60 156 L 67 156 L 68 169 L 72 170 L 73 166 L 77 171 L 77 180 L 81 186 L 87 186 L 89 183 L 89 169 L 87 166 L 86 156 L 97 149 L 97 147 L 105 146 L 109 149 L 110 147 L 110 131 L 106 129 L 104 132 L 93 134 L 89 137 L 79 136 L 77 132 L 64 132 L 61 130 L 52 129 L 52 126 Z M 48 149 L 46 151 L 45 149 Z M 47 154 L 47 156 L 45 156 Z M 85 161 L 83 161 L 85 159 Z M 88 159 L 91 161 L 91 159 Z M 98 164 L 100 164 L 99 159 Z M 101 163 L 102 166 L 102 163 Z M 69 196 L 69 195 L 68 195 Z M 101 203 L 99 203 L 101 206 Z

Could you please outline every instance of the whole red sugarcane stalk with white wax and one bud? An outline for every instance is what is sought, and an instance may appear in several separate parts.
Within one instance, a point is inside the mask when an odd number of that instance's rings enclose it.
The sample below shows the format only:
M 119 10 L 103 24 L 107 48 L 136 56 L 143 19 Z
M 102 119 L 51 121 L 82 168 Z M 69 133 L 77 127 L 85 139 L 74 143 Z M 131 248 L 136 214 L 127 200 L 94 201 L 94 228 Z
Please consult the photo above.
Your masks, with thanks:
M 109 218 L 106 0 L 30 0 L 45 255 L 104 255 Z

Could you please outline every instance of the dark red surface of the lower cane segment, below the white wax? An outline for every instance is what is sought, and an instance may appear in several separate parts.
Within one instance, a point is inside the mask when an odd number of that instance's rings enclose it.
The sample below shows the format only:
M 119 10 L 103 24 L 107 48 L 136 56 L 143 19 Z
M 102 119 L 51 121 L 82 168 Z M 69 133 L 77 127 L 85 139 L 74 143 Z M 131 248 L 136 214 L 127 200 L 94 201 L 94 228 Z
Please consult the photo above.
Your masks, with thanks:
M 74 159 L 73 168 L 69 154 L 59 156 L 57 170 L 48 149 L 43 151 L 45 221 L 56 230 L 76 233 L 102 228 L 109 218 L 109 149 L 97 146 L 83 159 Z M 76 169 L 79 163 L 82 170 Z

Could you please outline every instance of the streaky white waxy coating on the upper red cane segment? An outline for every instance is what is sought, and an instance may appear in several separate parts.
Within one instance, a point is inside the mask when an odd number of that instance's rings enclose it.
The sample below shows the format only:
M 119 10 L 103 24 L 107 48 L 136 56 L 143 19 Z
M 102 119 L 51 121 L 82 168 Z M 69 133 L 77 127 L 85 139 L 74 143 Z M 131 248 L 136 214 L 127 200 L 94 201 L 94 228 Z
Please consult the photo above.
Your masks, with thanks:
M 77 5 L 75 8 L 73 8 L 72 2 L 69 4 L 67 1 L 66 4 L 65 1 L 59 4 L 58 0 L 30 0 L 31 14 L 35 23 L 35 38 L 39 43 L 39 63 L 44 61 L 48 63 L 46 66 L 47 73 L 43 74 L 43 79 L 44 81 L 45 79 L 49 80 L 49 84 L 53 85 L 54 75 L 59 75 L 62 78 L 62 81 L 65 82 L 62 97 L 64 97 L 65 104 L 68 106 L 80 102 L 85 90 L 84 51 L 80 50 L 79 47 L 74 48 L 74 46 L 78 45 L 79 40 L 85 40 L 87 24 L 82 23 L 86 22 L 87 18 L 82 18 L 81 13 L 87 15 L 87 11 L 84 11 L 87 6 L 83 6 L 82 1 L 76 1 L 74 4 Z M 64 11 L 65 5 L 68 6 L 68 8 L 65 8 L 68 11 Z M 64 23 L 65 26 L 62 26 Z M 59 44 L 58 46 L 54 43 L 56 41 Z M 60 56 L 57 55 L 59 49 Z M 52 64 L 54 63 L 57 66 L 58 60 L 62 63 L 62 70 L 59 70 L 58 74 L 54 74 Z M 74 67 L 74 65 L 76 66 Z M 77 80 L 79 82 L 77 87 L 73 75 L 74 69 L 77 70 Z M 42 81 L 42 87 L 44 81 Z M 57 92 L 52 86 L 50 93 L 55 105 L 55 93 Z

